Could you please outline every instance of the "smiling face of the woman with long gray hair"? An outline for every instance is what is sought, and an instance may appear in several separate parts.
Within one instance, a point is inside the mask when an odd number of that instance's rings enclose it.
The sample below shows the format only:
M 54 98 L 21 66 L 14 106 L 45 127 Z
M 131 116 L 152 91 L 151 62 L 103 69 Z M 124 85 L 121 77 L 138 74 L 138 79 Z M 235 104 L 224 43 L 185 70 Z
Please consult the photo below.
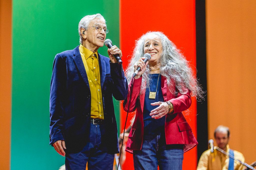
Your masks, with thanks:
M 157 62 L 162 51 L 162 42 L 158 35 L 151 34 L 145 37 L 144 54 L 149 53 L 151 55 L 149 63 Z

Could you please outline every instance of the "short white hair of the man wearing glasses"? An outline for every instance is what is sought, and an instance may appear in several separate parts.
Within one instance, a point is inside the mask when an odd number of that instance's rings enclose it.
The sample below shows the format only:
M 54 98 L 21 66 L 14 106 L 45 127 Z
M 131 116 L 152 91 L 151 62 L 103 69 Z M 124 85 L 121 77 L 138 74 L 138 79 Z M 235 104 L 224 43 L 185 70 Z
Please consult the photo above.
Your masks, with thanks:
M 84 16 L 81 20 L 80 20 L 80 22 L 79 22 L 79 24 L 78 24 L 78 33 L 79 33 L 79 35 L 80 35 L 80 44 L 82 44 L 82 42 L 83 42 L 83 37 L 82 37 L 82 33 L 81 33 L 81 28 L 84 28 L 85 30 L 87 30 L 87 28 L 86 27 L 88 27 L 89 26 L 89 24 L 90 24 L 90 22 L 93 20 L 93 19 L 95 19 L 95 18 L 98 18 L 98 19 L 102 19 L 102 20 L 104 20 L 104 22 L 106 22 L 106 20 L 104 19 L 104 17 L 101 15 L 101 14 L 94 14 L 94 15 L 87 15 L 87 16 Z

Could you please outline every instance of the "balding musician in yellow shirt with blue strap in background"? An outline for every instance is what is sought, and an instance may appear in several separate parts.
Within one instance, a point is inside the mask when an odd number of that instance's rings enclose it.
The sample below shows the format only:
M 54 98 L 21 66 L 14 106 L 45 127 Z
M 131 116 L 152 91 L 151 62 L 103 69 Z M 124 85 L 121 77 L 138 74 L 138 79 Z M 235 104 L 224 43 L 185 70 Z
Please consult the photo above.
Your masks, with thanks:
M 227 153 L 230 153 L 234 156 L 235 159 L 238 159 L 242 162 L 244 162 L 244 156 L 242 153 L 238 151 L 231 150 L 228 146 L 229 142 L 229 128 L 226 126 L 218 126 L 214 131 L 214 138 L 217 143 L 217 146 L 220 149 L 223 149 Z M 214 150 L 213 153 L 211 153 L 210 149 L 202 153 L 200 160 L 198 162 L 197 170 L 240 170 L 243 169 L 243 165 L 240 164 L 237 161 L 234 161 L 233 159 L 230 159 L 225 154 Z

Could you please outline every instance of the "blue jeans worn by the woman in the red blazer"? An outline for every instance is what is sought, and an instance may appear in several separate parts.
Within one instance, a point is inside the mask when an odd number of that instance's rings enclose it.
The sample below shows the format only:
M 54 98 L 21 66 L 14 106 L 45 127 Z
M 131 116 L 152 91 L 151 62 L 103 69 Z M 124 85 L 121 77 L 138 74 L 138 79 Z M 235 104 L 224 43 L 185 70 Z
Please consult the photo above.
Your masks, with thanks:
M 164 135 L 144 135 L 141 150 L 133 150 L 134 169 L 182 169 L 183 145 L 166 145 Z

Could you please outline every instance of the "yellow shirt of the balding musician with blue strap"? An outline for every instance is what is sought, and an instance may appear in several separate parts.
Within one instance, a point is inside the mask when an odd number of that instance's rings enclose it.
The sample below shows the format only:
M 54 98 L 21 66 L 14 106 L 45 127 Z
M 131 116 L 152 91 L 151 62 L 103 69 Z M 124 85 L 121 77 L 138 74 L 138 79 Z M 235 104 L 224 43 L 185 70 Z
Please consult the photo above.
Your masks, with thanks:
M 227 149 L 225 150 L 229 153 L 229 146 L 227 145 Z M 234 158 L 244 162 L 244 156 L 242 153 L 238 151 L 234 151 Z M 211 153 L 210 149 L 202 153 L 197 170 L 228 170 L 229 166 L 229 157 L 225 154 L 221 153 L 218 150 L 214 150 Z M 234 170 L 243 169 L 243 165 L 240 164 L 238 161 L 234 161 Z

